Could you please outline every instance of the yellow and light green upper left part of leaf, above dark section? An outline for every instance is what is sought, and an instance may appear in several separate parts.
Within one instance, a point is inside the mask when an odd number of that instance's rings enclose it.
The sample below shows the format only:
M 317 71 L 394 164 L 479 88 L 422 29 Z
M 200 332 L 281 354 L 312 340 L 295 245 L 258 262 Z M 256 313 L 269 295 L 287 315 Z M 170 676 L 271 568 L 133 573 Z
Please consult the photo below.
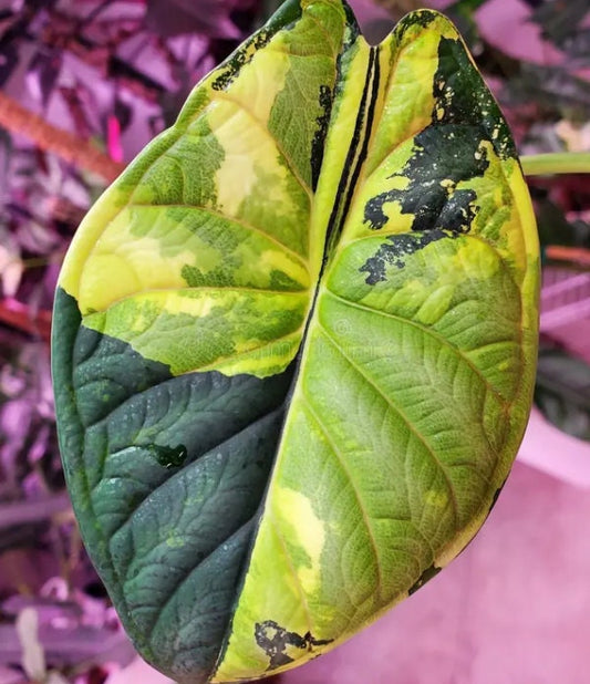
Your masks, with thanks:
M 84 325 L 174 374 L 265 377 L 301 343 L 323 256 L 313 186 L 345 24 L 337 2 L 304 4 L 196 86 L 69 251 L 60 284 Z

